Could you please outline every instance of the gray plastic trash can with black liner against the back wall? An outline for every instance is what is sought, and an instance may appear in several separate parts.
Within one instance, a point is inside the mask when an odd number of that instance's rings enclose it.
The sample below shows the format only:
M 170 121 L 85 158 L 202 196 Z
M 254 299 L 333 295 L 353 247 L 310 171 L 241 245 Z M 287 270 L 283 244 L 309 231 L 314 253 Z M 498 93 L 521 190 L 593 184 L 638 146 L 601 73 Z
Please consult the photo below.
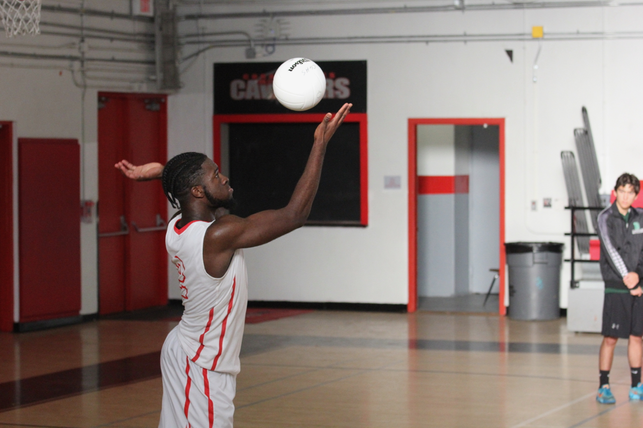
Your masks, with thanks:
M 560 317 L 559 289 L 563 244 L 507 242 L 509 317 L 545 320 Z

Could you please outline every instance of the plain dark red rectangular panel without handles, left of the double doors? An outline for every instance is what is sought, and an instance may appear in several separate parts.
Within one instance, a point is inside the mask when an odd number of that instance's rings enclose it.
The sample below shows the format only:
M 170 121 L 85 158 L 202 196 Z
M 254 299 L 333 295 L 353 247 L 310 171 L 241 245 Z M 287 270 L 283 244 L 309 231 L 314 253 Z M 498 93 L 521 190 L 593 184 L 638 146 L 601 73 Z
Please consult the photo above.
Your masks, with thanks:
M 20 322 L 80 312 L 80 147 L 18 139 Z

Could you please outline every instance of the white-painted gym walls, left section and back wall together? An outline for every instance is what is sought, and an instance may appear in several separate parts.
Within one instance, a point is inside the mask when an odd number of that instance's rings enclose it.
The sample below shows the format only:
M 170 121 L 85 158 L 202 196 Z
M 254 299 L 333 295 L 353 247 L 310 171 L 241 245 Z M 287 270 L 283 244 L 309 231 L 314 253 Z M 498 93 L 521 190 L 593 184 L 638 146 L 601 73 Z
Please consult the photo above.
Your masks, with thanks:
M 127 2 L 122 1 L 87 3 L 96 8 L 127 8 Z M 355 3 L 359 6 L 381 5 L 376 1 Z M 419 3 L 422 2 L 413 4 Z M 345 4 L 350 3 L 328 6 L 315 3 L 315 7 L 343 7 Z M 204 4 L 203 12 L 289 7 L 284 2 Z M 188 10 L 190 8 L 183 7 L 179 12 Z M 43 16 L 46 13 L 43 12 Z M 643 31 L 642 18 L 643 6 L 287 17 L 285 21 L 289 24 L 287 32 L 291 39 L 462 35 L 465 32 L 529 34 L 532 25 L 543 25 L 545 35 L 550 39 L 542 42 L 527 39 L 428 44 L 302 44 L 276 46 L 274 55 L 257 58 L 281 61 L 301 55 L 315 60 L 368 61 L 370 216 L 368 227 L 363 229 L 305 227 L 264 247 L 248 249 L 250 298 L 370 303 L 408 301 L 408 188 L 403 179 L 401 190 L 385 192 L 382 179 L 384 175 L 407 176 L 408 118 L 505 118 L 506 240 L 567 242 L 564 233 L 568 231 L 569 215 L 563 209 L 566 190 L 559 153 L 575 150 L 572 131 L 574 127 L 582 126 L 581 106 L 588 108 L 592 121 L 604 181 L 602 192 L 607 192 L 623 171 L 643 177 L 643 163 L 640 162 L 643 145 L 638 130 L 643 109 L 639 96 L 643 90 L 640 79 L 643 57 L 638 53 L 643 50 L 643 40 L 554 40 L 554 33 Z M 47 19 L 52 21 L 55 17 Z M 87 20 L 88 25 L 112 25 L 109 19 L 87 17 Z M 197 28 L 204 31 L 241 30 L 255 34 L 259 21 L 183 21 L 179 30 L 183 33 L 194 32 Z M 145 29 L 142 24 L 122 25 L 128 31 Z M 48 48 L 42 48 L 42 51 L 77 55 L 78 46 L 69 45 L 71 42 L 74 42 L 72 38 L 46 35 L 17 41 L 24 45 L 22 51 L 33 51 L 36 48 L 32 45 L 46 44 Z M 128 53 L 125 46 L 118 43 L 101 43 L 90 42 L 90 52 L 105 57 L 153 57 L 140 46 Z M 538 82 L 534 83 L 533 63 L 539 45 Z M 6 48 L 13 49 L 12 46 Z M 186 46 L 183 53 L 187 55 L 194 49 L 194 46 Z M 507 58 L 505 49 L 513 49 L 513 63 Z M 168 103 L 170 156 L 185 150 L 211 154 L 212 64 L 245 60 L 244 49 L 240 47 L 211 49 L 183 73 L 181 78 L 185 87 L 170 96 Z M 69 61 L 0 57 L 0 120 L 16 121 L 18 136 L 81 139 L 81 91 L 71 82 L 69 72 L 77 66 L 70 67 Z M 182 64 L 181 68 L 186 66 Z M 149 72 L 141 69 L 137 73 L 105 73 L 112 80 L 94 80 L 91 82 L 94 87 L 87 89 L 84 107 L 87 199 L 97 197 L 96 93 L 101 89 L 153 91 L 146 80 Z M 552 198 L 552 208 L 542 208 L 543 197 Z M 530 210 L 531 201 L 537 201 L 536 211 Z M 82 312 L 91 313 L 96 310 L 95 224 L 82 227 Z M 176 281 L 176 273 L 171 269 L 168 270 L 170 290 Z M 565 265 L 561 287 L 563 307 L 566 306 L 567 281 L 568 267 Z

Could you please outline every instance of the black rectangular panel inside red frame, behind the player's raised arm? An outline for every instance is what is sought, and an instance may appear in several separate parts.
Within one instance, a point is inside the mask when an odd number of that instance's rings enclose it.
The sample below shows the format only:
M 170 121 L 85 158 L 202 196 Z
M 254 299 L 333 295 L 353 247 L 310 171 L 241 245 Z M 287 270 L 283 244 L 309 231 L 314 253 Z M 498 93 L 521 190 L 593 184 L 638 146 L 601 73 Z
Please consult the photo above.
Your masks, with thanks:
M 230 123 L 230 183 L 248 217 L 283 208 L 302 175 L 317 123 Z M 343 123 L 326 150 L 307 224 L 361 226 L 359 123 Z

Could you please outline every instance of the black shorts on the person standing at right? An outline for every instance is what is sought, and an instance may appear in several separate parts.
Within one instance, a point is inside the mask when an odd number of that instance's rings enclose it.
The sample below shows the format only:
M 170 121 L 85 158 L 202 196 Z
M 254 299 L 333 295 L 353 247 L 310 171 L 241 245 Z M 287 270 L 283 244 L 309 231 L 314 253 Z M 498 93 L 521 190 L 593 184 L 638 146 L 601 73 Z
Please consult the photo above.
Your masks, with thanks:
M 643 336 L 643 297 L 605 293 L 601 334 L 610 337 Z

